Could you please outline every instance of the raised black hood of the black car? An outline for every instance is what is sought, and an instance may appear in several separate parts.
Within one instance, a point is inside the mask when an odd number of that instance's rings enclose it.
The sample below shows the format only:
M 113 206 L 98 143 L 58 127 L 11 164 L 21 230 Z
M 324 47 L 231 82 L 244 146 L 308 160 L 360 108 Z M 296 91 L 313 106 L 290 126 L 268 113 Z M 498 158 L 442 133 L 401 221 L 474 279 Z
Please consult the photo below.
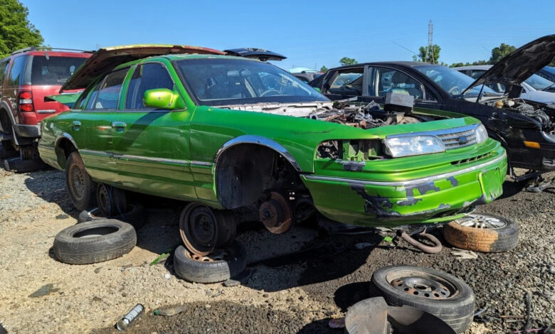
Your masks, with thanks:
M 472 85 L 462 92 L 464 95 L 473 87 L 499 82 L 503 85 L 520 85 L 535 72 L 551 63 L 555 57 L 555 35 L 536 39 L 517 48 L 493 65 Z

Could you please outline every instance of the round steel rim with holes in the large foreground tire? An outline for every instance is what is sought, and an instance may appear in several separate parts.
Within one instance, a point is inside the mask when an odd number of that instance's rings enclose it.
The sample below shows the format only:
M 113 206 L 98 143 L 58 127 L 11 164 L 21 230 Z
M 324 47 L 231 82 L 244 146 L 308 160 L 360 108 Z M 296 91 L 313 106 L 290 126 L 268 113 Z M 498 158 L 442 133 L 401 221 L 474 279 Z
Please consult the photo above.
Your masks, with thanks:
M 391 286 L 407 294 L 429 299 L 445 299 L 452 294 L 440 282 L 421 276 L 401 277 L 391 281 Z

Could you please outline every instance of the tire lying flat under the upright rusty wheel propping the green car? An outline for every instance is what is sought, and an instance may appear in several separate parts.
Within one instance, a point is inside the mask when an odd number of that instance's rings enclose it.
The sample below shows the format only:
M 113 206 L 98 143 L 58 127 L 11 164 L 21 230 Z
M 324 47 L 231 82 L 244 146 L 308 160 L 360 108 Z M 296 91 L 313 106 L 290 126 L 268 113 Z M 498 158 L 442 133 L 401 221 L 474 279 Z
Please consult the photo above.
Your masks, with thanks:
M 177 276 L 196 283 L 216 283 L 240 274 L 247 264 L 247 253 L 243 245 L 233 241 L 223 249 L 228 254 L 226 259 L 199 261 L 192 259 L 194 255 L 185 247 L 177 247 L 174 253 L 174 268 Z

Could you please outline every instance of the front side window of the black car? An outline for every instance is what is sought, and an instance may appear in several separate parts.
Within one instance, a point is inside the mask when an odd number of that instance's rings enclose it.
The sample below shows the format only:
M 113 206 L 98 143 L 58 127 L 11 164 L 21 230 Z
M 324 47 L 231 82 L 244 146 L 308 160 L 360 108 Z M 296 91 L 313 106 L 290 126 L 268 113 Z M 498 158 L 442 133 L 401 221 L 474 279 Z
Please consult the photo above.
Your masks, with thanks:
M 375 75 L 374 87 L 369 91 L 370 96 L 385 97 L 388 92 L 395 92 L 412 95 L 415 99 L 423 99 L 424 87 L 413 77 L 391 68 L 375 68 L 372 72 Z

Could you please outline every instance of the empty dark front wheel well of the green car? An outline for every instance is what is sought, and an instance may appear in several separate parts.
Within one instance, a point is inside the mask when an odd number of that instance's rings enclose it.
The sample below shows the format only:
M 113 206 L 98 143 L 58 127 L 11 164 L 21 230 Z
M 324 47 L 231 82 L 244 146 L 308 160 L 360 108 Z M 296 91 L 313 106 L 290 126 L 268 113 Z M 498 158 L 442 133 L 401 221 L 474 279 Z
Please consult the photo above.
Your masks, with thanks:
M 269 190 L 287 193 L 299 187 L 304 184 L 292 164 L 266 146 L 231 146 L 216 163 L 216 193 L 226 209 L 253 204 Z

